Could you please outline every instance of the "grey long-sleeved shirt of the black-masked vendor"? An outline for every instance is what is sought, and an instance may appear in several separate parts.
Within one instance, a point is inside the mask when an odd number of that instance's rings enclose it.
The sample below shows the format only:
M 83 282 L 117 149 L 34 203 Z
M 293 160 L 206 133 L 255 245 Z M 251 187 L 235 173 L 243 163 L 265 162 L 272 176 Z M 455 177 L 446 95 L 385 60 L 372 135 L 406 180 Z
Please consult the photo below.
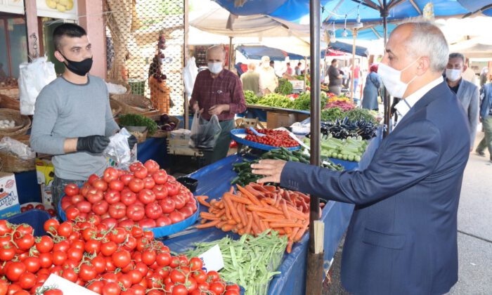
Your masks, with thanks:
M 106 159 L 101 154 L 65 154 L 66 138 L 112 136 L 118 125 L 112 117 L 105 82 L 89 75 L 87 84 L 73 84 L 58 77 L 39 93 L 34 108 L 31 147 L 53 155 L 58 178 L 86 180 L 92 173 L 101 176 Z

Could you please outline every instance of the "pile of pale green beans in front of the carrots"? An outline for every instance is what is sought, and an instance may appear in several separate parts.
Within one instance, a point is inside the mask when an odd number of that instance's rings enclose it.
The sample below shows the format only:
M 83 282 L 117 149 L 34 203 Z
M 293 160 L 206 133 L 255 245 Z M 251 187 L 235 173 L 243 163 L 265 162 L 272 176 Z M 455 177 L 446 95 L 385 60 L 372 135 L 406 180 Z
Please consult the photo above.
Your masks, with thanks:
M 227 282 L 240 284 L 246 295 L 266 294 L 268 283 L 280 265 L 287 247 L 287 237 L 266 230 L 258 237 L 242 235 L 240 240 L 224 237 L 214 242 L 196 243 L 194 250 L 187 251 L 188 257 L 197 257 L 216 244 L 224 258 L 224 268 L 219 271 Z

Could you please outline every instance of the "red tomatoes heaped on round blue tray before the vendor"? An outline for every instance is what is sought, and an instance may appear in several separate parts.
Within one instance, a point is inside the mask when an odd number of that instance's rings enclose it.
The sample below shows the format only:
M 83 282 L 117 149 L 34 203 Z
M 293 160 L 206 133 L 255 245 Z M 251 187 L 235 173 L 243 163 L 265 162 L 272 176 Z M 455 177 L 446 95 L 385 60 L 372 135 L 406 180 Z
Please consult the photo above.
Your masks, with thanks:
M 90 176 L 80 189 L 75 184 L 65 186 L 61 208 L 67 219 L 99 216 L 109 226 L 155 228 L 183 221 L 197 210 L 190 190 L 157 162 L 135 162 L 129 169 L 110 167 L 101 178 Z

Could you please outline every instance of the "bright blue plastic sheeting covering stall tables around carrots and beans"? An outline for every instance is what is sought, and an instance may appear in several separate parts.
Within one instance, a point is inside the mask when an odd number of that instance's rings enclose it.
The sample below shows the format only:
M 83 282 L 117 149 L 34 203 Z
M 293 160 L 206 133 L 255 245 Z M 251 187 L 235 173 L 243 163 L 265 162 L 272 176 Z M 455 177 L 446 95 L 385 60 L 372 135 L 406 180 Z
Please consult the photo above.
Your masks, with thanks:
M 333 162 L 344 165 L 347 170 L 367 167 L 381 143 L 382 129 L 377 134 L 378 136 L 368 145 L 361 162 L 347 162 L 337 159 L 333 159 Z M 232 170 L 232 164 L 240 161 L 240 156 L 232 155 L 221 159 L 219 162 L 205 166 L 195 173 L 191 173 L 190 177 L 198 179 L 198 188 L 195 195 L 208 195 L 210 198 L 221 197 L 224 192 L 229 190 L 231 187 L 229 183 L 236 176 L 236 173 Z M 202 208 L 201 210 L 205 209 Z M 328 263 L 335 255 L 339 241 L 349 225 L 353 210 L 354 205 L 352 204 L 333 201 L 328 202 L 323 208 L 321 220 L 325 223 L 325 268 L 328 267 Z M 212 242 L 228 235 L 226 232 L 216 228 L 185 230 L 182 234 L 164 240 L 164 244 L 172 251 L 183 252 L 193 247 L 195 242 Z M 230 236 L 238 238 L 238 235 L 230 234 Z M 292 253 L 284 255 L 283 262 L 278 269 L 281 274 L 273 277 L 268 294 L 304 294 L 308 242 L 309 234 L 304 235 L 300 242 L 294 244 Z

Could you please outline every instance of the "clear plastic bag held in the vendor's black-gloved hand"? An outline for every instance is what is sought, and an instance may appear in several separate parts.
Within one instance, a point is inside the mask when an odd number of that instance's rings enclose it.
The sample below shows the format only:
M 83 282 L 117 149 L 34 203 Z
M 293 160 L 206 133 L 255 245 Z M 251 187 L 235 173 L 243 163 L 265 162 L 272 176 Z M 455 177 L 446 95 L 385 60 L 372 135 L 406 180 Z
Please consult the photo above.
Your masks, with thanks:
M 110 144 L 103 152 L 105 157 L 110 157 L 118 163 L 118 168 L 127 170 L 131 164 L 130 146 L 128 145 L 128 138 L 131 134 L 127 129 L 122 129 L 119 133 L 110 137 Z

